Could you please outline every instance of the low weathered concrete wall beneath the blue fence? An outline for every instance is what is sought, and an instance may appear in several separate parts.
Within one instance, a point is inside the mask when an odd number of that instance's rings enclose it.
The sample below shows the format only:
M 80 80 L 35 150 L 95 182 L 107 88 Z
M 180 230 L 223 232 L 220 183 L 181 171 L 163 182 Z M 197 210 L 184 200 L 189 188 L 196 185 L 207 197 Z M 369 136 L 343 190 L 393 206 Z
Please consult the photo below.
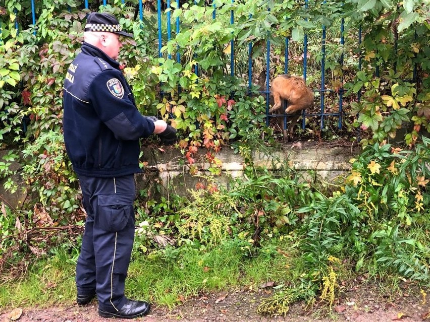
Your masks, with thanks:
M 137 189 L 148 188 L 156 180 L 163 183 L 165 187 L 174 188 L 176 194 L 184 196 L 187 194 L 187 189 L 194 188 L 198 181 L 202 181 L 201 176 L 210 175 L 209 165 L 202 161 L 204 155 L 194 156 L 199 171 L 198 175 L 192 176 L 189 173 L 187 160 L 178 149 L 165 147 L 161 151 L 158 148 L 143 148 L 142 151 L 143 159 L 148 164 L 147 171 L 136 176 Z M 1 151 L 0 157 L 5 153 L 5 151 Z M 358 149 L 348 145 L 296 142 L 284 144 L 272 151 L 270 155 L 254 151 L 252 159 L 255 166 L 279 169 L 288 164 L 288 166 L 300 171 L 313 170 L 317 178 L 331 181 L 350 168 L 348 161 L 357 154 Z M 216 157 L 222 161 L 221 175 L 214 177 L 218 184 L 227 185 L 231 177 L 243 175 L 245 162 L 240 155 L 234 154 L 232 149 L 224 147 Z M 12 166 L 19 170 L 18 163 Z M 19 175 L 15 175 L 13 179 L 15 182 L 21 181 Z M 10 206 L 21 209 L 22 203 L 28 195 L 26 186 L 20 182 L 22 189 L 10 194 L 3 188 L 5 180 L 0 180 L 0 197 Z M 166 188 L 165 192 L 167 193 L 167 191 Z

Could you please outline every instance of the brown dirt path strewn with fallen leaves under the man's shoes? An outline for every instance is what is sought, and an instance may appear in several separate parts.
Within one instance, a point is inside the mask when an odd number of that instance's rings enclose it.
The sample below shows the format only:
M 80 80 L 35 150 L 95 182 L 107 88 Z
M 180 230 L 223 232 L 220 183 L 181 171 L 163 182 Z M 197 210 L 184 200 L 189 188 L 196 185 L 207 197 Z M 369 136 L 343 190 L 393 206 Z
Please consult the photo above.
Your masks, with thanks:
M 154 306 L 149 315 L 135 319 L 147 322 L 227 322 L 227 321 L 351 321 L 351 322 L 420 322 L 430 321 L 430 303 L 423 293 L 407 290 L 404 294 L 381 294 L 376 285 L 366 285 L 345 291 L 333 305 L 331 311 L 323 312 L 318 304 L 312 312 L 304 310 L 303 303 L 290 307 L 287 316 L 264 317 L 256 313 L 260 300 L 270 291 L 231 291 L 205 294 L 185 301 L 174 310 Z M 10 310 L 11 311 L 11 310 Z M 0 322 L 9 322 L 10 311 L 0 314 Z M 428 317 L 427 317 L 428 316 Z M 114 319 L 102 318 L 97 313 L 97 303 L 80 307 L 78 305 L 49 308 L 23 308 L 19 322 L 103 322 Z

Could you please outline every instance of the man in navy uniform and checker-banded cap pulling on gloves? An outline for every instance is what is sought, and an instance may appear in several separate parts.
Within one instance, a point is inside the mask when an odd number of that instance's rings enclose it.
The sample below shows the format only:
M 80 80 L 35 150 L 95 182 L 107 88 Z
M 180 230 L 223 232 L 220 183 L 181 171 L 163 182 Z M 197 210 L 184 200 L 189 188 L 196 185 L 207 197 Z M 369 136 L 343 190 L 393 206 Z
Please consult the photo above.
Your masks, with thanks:
M 103 317 L 134 318 L 150 304 L 127 299 L 125 279 L 134 240 L 135 182 L 140 138 L 157 134 L 172 144 L 176 130 L 142 116 L 116 60 L 122 47 L 118 20 L 90 13 L 81 52 L 64 83 L 64 141 L 79 177 L 87 213 L 76 267 L 77 302 L 98 298 Z

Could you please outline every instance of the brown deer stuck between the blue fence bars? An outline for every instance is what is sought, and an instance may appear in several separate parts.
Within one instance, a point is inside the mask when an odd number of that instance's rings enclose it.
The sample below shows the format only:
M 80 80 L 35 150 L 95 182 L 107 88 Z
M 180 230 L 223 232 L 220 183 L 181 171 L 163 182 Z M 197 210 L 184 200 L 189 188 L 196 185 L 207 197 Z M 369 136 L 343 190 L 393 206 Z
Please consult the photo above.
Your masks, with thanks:
M 260 89 L 264 89 L 265 83 L 266 72 L 263 70 L 258 77 L 257 85 L 260 86 Z M 289 130 L 292 137 L 294 125 L 301 115 L 300 112 L 313 104 L 313 92 L 306 85 L 303 78 L 287 74 L 280 75 L 272 81 L 270 92 L 273 101 L 270 99 L 269 103 L 272 108 L 269 109 L 269 113 L 277 111 L 281 107 L 283 100 L 288 104 L 285 113 L 291 114 Z M 284 129 L 284 116 L 280 115 L 278 119 L 281 128 Z M 287 130 L 284 130 L 284 140 L 288 140 Z

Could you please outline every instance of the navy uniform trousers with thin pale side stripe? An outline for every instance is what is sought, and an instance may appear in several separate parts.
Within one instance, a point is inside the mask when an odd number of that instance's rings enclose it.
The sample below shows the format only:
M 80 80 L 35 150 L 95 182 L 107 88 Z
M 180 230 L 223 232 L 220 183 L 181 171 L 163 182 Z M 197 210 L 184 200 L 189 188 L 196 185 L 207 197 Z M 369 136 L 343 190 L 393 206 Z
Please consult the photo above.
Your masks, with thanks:
M 78 294 L 97 293 L 99 308 L 115 312 L 126 302 L 125 279 L 134 240 L 134 175 L 79 176 L 87 212 L 76 266 Z

